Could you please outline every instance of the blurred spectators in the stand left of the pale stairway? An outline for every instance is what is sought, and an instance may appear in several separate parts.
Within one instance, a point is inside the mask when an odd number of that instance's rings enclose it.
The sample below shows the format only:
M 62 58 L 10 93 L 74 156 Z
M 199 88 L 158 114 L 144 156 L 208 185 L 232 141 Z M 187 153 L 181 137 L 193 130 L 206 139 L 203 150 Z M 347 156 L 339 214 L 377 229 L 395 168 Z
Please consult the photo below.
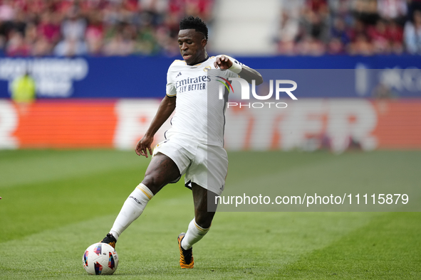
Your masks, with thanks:
M 212 21 L 213 0 L 0 0 L 9 56 L 175 55 L 180 19 Z

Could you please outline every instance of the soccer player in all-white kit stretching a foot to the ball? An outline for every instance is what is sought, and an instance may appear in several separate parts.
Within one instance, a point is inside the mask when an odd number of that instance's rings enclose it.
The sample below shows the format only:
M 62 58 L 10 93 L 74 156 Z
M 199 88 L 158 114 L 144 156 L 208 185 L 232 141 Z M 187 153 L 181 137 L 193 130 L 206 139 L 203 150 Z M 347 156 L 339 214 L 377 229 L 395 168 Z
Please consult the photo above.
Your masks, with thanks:
M 259 72 L 227 55 L 209 57 L 205 49 L 207 33 L 207 26 L 200 18 L 189 16 L 180 21 L 178 44 L 184 60 L 175 60 L 170 65 L 167 95 L 135 148 L 139 156 L 148 157 L 149 151 L 152 159 L 142 183 L 129 195 L 110 232 L 101 241 L 115 247 L 118 237 L 142 214 L 147 202 L 165 185 L 177 182 L 185 174 L 194 203 L 194 219 L 187 232 L 178 236 L 180 266 L 186 269 L 194 266 L 193 244 L 209 231 L 216 210 L 214 198 L 224 189 L 228 168 L 227 152 L 223 148 L 227 98 L 219 100 L 215 95 L 212 106 L 208 104 L 208 95 L 212 93 L 208 86 L 214 76 L 209 77 L 207 71 L 219 69 L 217 77 L 222 80 L 241 76 L 249 83 L 255 80 L 256 85 L 263 82 Z M 152 153 L 155 133 L 174 110 L 172 128 L 165 132 L 167 140 L 157 144 Z M 214 203 L 210 211 L 208 200 Z

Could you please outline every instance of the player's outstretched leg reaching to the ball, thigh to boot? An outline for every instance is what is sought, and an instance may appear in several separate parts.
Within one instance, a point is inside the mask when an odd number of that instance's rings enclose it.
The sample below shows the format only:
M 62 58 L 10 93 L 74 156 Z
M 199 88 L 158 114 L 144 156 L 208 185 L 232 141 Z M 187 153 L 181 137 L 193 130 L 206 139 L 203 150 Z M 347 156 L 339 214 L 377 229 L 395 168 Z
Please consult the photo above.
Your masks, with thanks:
M 178 178 L 180 178 L 180 171 L 171 158 L 161 153 L 153 156 L 142 183 L 137 185 L 125 200 L 110 233 L 101 242 L 115 247 L 118 237 L 142 214 L 149 200 L 165 185 L 177 181 Z

